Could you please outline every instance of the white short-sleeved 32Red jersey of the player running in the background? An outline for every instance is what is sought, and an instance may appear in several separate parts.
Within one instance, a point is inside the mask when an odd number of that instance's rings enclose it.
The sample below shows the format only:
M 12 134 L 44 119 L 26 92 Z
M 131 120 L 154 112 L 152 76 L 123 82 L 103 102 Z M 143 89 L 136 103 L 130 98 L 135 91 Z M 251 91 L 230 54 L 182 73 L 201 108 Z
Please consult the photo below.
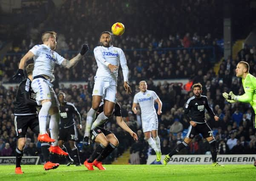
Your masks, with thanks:
M 154 101 L 158 98 L 158 95 L 154 91 L 147 90 L 146 92 L 138 92 L 135 94 L 133 102 L 137 103 L 141 107 L 141 116 L 147 116 L 149 114 L 156 114 Z

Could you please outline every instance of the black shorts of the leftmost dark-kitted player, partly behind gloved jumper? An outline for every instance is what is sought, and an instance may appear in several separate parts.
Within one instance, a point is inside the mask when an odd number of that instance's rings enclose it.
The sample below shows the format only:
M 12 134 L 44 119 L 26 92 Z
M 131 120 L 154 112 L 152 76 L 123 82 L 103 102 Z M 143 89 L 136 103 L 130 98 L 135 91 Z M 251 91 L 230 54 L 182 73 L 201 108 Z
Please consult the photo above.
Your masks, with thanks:
M 17 138 L 25 138 L 28 128 L 30 128 L 35 134 L 39 134 L 39 122 L 38 116 L 27 115 L 27 116 L 15 116 L 14 125 Z

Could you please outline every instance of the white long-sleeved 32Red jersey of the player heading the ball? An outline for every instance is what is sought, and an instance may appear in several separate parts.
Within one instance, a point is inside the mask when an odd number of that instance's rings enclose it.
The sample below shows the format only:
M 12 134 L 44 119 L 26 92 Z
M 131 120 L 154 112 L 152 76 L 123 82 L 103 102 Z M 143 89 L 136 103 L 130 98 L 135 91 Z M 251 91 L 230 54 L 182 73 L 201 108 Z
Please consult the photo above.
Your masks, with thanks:
M 116 85 L 118 69 L 111 72 L 104 62 L 107 61 L 112 65 L 118 66 L 118 68 L 121 65 L 122 69 L 124 69 L 124 67 L 127 67 L 127 61 L 123 50 L 112 45 L 110 47 L 98 46 L 94 48 L 93 53 L 98 65 L 95 78 L 101 78 L 102 80 L 111 78 L 114 81 L 113 84 Z

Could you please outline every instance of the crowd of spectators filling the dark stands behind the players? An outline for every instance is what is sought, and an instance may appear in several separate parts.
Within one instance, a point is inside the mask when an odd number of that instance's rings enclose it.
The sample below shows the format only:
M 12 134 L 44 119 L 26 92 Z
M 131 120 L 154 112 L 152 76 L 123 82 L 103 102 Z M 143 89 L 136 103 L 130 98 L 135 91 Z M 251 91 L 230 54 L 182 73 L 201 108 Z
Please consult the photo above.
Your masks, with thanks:
M 118 1 L 114 0 L 110 2 L 111 3 L 106 3 L 106 8 L 110 8 L 110 6 L 115 8 L 115 3 L 118 3 Z M 209 9 L 211 3 L 209 4 L 208 1 L 199 0 L 196 2 L 181 0 L 179 8 L 177 8 L 178 5 L 176 6 L 171 3 L 167 5 L 164 4 L 163 1 L 150 2 L 159 7 L 155 8 L 155 11 L 159 11 L 161 7 L 163 7 L 161 9 L 163 17 L 168 17 L 171 12 L 174 15 L 176 14 L 176 17 L 172 16 L 172 21 L 166 20 L 166 22 L 159 22 L 164 25 L 164 27 L 173 27 L 173 29 L 161 29 L 163 26 L 159 25 L 155 26 L 154 31 L 150 33 L 147 29 L 148 26 L 150 26 L 150 22 L 147 23 L 147 21 L 154 19 L 148 18 L 145 20 L 146 22 L 143 22 L 146 26 L 141 26 L 139 30 L 137 30 L 136 27 L 130 26 L 130 30 L 127 28 L 123 36 L 113 38 L 113 45 L 121 47 L 126 54 L 130 70 L 130 86 L 132 88 L 131 95 L 127 95 L 124 92 L 122 74 L 120 73 L 120 81 L 118 82 L 118 102 L 122 106 L 124 120 L 127 125 L 138 134 L 139 139 L 134 142 L 129 133 L 125 133 L 118 127 L 115 123 L 115 117 L 112 117 L 106 126 L 117 136 L 120 144 L 105 162 L 113 162 L 129 147 L 131 155 L 139 158 L 137 161 L 131 159 L 131 164 L 145 164 L 147 162 L 147 156 L 154 154 L 154 151 L 149 150 L 147 142 L 144 141 L 140 112 L 138 111 L 137 115 L 135 115 L 131 110 L 133 96 L 139 91 L 138 82 L 141 80 L 146 80 L 148 89 L 155 91 L 163 101 L 163 114 L 158 117 L 158 134 L 161 139 L 162 154 L 169 153 L 175 145 L 183 140 L 189 126 L 189 120 L 185 120 L 183 116 L 184 104 L 187 99 L 193 95 L 193 92 L 188 91 L 185 94 L 182 93 L 181 86 L 177 83 L 170 84 L 167 81 L 159 81 L 158 84 L 153 83 L 153 80 L 156 79 L 164 80 L 172 78 L 187 78 L 193 83 L 200 82 L 203 85 L 202 94 L 208 97 L 210 107 L 216 115 L 220 117 L 220 120 L 215 122 L 213 118 L 206 114 L 207 122 L 210 124 L 210 127 L 213 128 L 213 134 L 216 137 L 219 154 L 255 153 L 255 115 L 251 107 L 247 104 L 230 104 L 225 102 L 222 97 L 222 92 L 232 90 L 236 95 L 243 94 L 241 79 L 235 77 L 234 70 L 239 61 L 247 61 L 250 64 L 250 73 L 255 75 L 253 70 L 256 68 L 256 48 L 245 46 L 235 59 L 230 57 L 222 61 L 219 72 L 216 74 L 213 70 L 213 64 L 211 63 L 211 61 L 213 61 L 212 54 L 215 53 L 216 61 L 219 61 L 218 57 L 221 55 L 221 52 L 219 52 L 219 47 L 216 45 L 216 39 L 214 38 L 218 36 L 216 35 L 216 31 L 214 31 L 215 29 L 213 28 L 213 31 L 211 31 L 214 36 L 212 37 L 211 33 L 205 31 L 204 28 L 199 29 L 200 26 L 194 24 L 187 23 L 184 27 L 179 26 L 178 19 L 180 17 L 177 17 L 178 12 L 181 12 L 179 15 L 184 18 L 186 15 L 186 22 L 193 22 L 199 25 L 199 23 L 201 23 L 199 22 L 200 19 L 198 19 L 198 22 L 192 21 L 193 16 L 187 16 L 187 13 L 191 12 L 191 14 L 195 14 L 198 8 L 207 9 L 207 7 L 209 11 L 206 12 L 208 13 L 216 7 L 213 6 Z M 138 8 L 142 8 L 144 3 L 145 2 L 142 1 Z M 59 11 L 52 11 L 52 14 L 49 14 L 48 21 L 41 23 L 38 29 L 31 28 L 31 36 L 27 38 L 24 37 L 18 46 L 11 46 L 8 51 L 9 54 L 0 59 L 0 156 L 14 156 L 16 148 L 13 103 L 17 87 L 6 88 L 3 84 L 12 82 L 12 75 L 16 72 L 17 65 L 23 54 L 33 45 L 41 44 L 41 31 L 46 29 L 54 29 L 57 31 L 59 33 L 57 39 L 58 52 L 69 59 L 78 52 L 83 42 L 88 43 L 90 50 L 93 50 L 93 48 L 98 45 L 98 38 L 101 31 L 105 31 L 106 27 L 109 27 L 109 25 L 105 25 L 104 23 L 112 22 L 112 19 L 115 19 L 113 17 L 115 17 L 115 14 L 119 11 L 125 12 L 121 17 L 123 19 L 120 20 L 124 22 L 125 25 L 125 19 L 129 19 L 127 16 L 131 14 L 136 15 L 137 11 L 135 6 L 129 3 L 121 4 L 123 9 L 104 11 L 105 6 L 96 6 L 94 1 L 66 0 L 66 3 L 61 6 Z M 88 11 L 84 11 L 84 7 L 89 7 L 87 9 Z M 125 8 L 128 8 L 129 11 L 123 11 Z M 171 12 L 169 8 L 172 9 Z M 146 7 L 143 7 L 143 9 L 145 10 L 144 16 L 147 17 L 147 14 L 150 12 L 147 11 Z M 103 22 L 103 19 L 99 18 L 97 19 L 98 22 L 95 22 L 93 17 L 101 17 L 98 16 L 99 14 L 107 19 L 104 19 Z M 208 17 L 208 15 L 205 16 Z M 51 21 L 49 19 L 51 19 Z M 137 27 L 139 27 L 138 19 L 132 19 Z M 203 19 L 205 20 L 205 18 Z M 157 22 L 157 19 L 155 19 L 155 22 Z M 214 25 L 213 22 L 211 23 Z M 70 26 L 71 24 L 73 26 Z M 127 24 L 129 24 L 129 22 L 127 22 Z M 207 26 L 208 30 L 210 29 L 209 26 Z M 90 29 L 97 30 L 98 32 L 91 34 L 92 31 Z M 184 30 L 189 30 L 190 33 Z M 166 35 L 166 37 L 164 35 Z M 214 47 L 214 49 L 207 49 L 209 46 Z M 178 47 L 178 49 L 171 49 L 176 47 Z M 92 52 L 83 57 L 76 67 L 71 70 L 65 70 L 59 66 L 55 67 L 55 92 L 56 94 L 58 94 L 58 92 L 65 92 L 67 101 L 74 103 L 82 117 L 82 130 L 85 128 L 86 113 L 92 105 L 91 94 L 94 83 L 93 76 L 96 70 L 97 65 Z M 58 81 L 63 80 L 86 81 L 88 82 L 88 86 L 87 89 L 84 89 L 83 86 L 74 86 L 72 84 L 70 84 L 69 87 L 64 87 L 63 84 L 58 84 Z M 78 136 L 78 146 L 81 161 L 83 161 L 92 153 L 95 144 L 84 147 L 81 144 L 83 131 L 79 131 Z M 210 147 L 208 142 L 198 135 L 193 139 L 189 147 L 182 150 L 181 153 L 207 154 L 209 151 Z M 36 135 L 29 130 L 24 155 L 34 156 L 35 154 L 40 155 L 40 143 L 37 142 Z

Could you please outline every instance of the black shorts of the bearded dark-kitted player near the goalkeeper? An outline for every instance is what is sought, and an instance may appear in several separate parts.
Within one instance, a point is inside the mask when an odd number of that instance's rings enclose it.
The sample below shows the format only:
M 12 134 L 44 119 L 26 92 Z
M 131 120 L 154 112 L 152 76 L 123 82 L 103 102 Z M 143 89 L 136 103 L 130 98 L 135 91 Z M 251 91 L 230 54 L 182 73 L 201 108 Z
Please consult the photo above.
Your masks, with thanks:
M 203 123 L 203 124 L 197 123 L 195 127 L 193 127 L 192 125 L 188 127 L 186 138 L 194 138 L 196 135 L 200 133 L 202 134 L 203 138 L 213 136 L 213 132 L 207 123 Z

